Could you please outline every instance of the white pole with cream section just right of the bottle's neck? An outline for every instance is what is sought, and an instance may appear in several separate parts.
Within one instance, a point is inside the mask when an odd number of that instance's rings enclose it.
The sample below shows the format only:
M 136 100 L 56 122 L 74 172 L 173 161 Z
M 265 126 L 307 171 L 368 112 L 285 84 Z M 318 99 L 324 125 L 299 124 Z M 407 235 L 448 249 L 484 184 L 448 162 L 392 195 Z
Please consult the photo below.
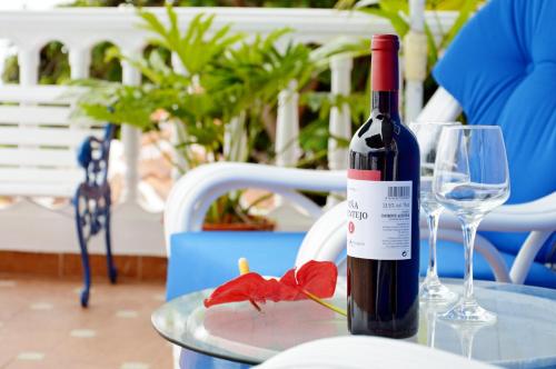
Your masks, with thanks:
M 427 78 L 425 0 L 409 1 L 409 17 L 410 30 L 404 38 L 406 123 L 414 121 L 423 109 L 423 82 Z

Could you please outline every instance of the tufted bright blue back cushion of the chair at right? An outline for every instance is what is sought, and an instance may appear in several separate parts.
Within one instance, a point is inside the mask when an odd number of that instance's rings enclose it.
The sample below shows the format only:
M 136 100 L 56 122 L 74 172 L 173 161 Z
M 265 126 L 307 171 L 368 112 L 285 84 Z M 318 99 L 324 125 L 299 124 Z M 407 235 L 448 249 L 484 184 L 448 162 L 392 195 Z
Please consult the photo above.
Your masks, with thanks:
M 471 124 L 502 128 L 508 154 L 508 203 L 556 190 L 556 1 L 492 0 L 459 32 L 434 77 Z M 526 235 L 484 233 L 517 253 Z M 537 260 L 547 261 L 555 238 Z

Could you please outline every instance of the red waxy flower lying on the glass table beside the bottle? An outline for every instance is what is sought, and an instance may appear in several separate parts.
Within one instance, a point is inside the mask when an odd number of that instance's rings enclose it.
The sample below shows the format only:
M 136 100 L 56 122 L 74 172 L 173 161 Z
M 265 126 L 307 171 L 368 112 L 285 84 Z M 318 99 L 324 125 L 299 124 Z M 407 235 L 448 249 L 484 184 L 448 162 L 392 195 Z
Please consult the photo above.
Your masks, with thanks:
M 334 296 L 337 277 L 338 270 L 334 262 L 315 260 L 306 262 L 297 271 L 295 268 L 288 270 L 280 280 L 248 272 L 215 289 L 205 300 L 205 307 L 237 301 L 256 305 L 267 300 L 301 300 L 307 299 L 308 293 L 326 299 Z

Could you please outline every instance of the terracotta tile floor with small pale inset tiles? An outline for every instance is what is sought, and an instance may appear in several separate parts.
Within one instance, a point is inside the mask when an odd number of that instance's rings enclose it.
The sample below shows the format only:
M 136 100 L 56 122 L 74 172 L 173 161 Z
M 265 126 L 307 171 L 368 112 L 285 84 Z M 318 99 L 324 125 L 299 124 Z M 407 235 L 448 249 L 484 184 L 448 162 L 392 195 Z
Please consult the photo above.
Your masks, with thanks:
M 163 285 L 93 283 L 0 275 L 0 368 L 171 368 L 171 348 L 150 323 Z

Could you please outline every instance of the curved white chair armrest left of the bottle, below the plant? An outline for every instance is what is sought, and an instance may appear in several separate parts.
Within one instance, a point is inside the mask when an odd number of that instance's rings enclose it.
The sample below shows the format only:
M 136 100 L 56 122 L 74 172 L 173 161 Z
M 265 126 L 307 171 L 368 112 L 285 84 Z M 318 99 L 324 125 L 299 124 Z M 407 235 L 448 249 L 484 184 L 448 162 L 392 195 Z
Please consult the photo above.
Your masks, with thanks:
M 200 230 L 205 215 L 215 199 L 229 191 L 249 187 L 272 191 L 311 208 L 316 206 L 295 190 L 344 191 L 346 172 L 239 162 L 217 162 L 196 168 L 179 179 L 166 203 L 165 238 L 168 255 L 170 235 Z

